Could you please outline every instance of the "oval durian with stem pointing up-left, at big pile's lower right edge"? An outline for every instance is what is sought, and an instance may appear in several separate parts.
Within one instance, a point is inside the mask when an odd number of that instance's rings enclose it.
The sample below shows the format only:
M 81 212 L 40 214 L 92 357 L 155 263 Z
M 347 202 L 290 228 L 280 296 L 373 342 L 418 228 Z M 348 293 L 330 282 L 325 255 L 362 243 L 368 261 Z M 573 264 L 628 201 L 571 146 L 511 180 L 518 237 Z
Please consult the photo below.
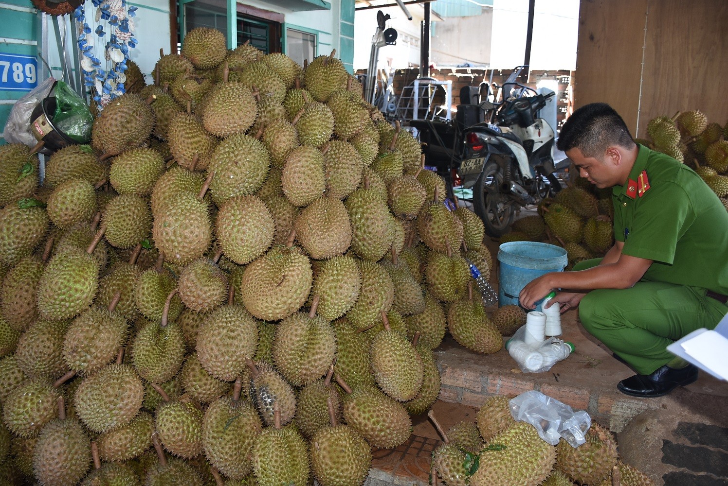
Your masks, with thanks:
M 337 381 L 340 385 L 343 383 L 342 388 L 347 391 L 344 421 L 372 447 L 394 449 L 407 441 L 412 433 L 412 422 L 402 404 L 376 387 L 365 386 L 351 391 L 347 383 L 340 378 Z

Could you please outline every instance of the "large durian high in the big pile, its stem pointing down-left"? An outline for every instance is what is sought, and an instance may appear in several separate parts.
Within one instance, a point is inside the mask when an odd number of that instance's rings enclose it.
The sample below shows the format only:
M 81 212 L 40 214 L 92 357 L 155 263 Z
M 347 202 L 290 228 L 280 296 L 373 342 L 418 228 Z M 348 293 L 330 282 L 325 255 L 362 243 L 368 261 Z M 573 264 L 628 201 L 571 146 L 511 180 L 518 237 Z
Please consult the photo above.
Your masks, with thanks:
M 235 134 L 223 140 L 213 152 L 208 174 L 210 195 L 218 206 L 233 196 L 255 194 L 268 176 L 270 154 L 260 140 Z

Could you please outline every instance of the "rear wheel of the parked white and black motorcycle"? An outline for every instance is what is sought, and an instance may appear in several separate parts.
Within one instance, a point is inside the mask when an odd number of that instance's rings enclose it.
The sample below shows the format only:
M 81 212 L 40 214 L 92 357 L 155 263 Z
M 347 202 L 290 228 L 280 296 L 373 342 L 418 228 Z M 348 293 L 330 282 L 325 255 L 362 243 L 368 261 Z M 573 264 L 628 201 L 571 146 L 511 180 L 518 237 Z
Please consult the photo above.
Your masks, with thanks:
M 507 233 L 515 218 L 513 202 L 500 190 L 503 171 L 495 162 L 488 162 L 480 172 L 473 190 L 475 213 L 483 220 L 488 236 L 499 237 Z

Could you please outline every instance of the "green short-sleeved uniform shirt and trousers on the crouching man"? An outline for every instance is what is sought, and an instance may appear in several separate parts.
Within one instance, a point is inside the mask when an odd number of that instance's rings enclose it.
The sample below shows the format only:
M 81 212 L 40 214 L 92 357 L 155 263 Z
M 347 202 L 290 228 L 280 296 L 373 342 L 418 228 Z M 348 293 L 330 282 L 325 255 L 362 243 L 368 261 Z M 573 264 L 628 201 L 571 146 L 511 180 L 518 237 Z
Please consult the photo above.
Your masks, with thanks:
M 579 319 L 637 373 L 649 375 L 674 358 L 668 345 L 701 327 L 713 329 L 728 313 L 719 300 L 728 295 L 728 212 L 693 170 L 644 146 L 628 183 L 614 186 L 612 196 L 622 253 L 654 262 L 630 289 L 589 292 Z

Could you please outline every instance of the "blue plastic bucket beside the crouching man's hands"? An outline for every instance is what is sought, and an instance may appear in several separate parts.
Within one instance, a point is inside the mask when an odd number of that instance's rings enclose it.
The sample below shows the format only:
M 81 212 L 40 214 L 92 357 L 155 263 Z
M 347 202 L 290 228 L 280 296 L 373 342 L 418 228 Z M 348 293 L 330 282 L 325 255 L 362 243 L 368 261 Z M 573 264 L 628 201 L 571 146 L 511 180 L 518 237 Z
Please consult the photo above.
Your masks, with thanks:
M 507 242 L 498 250 L 498 305 L 520 306 L 518 294 L 531 280 L 550 271 L 563 271 L 566 250 L 541 242 Z M 540 311 L 541 301 L 535 309 Z

